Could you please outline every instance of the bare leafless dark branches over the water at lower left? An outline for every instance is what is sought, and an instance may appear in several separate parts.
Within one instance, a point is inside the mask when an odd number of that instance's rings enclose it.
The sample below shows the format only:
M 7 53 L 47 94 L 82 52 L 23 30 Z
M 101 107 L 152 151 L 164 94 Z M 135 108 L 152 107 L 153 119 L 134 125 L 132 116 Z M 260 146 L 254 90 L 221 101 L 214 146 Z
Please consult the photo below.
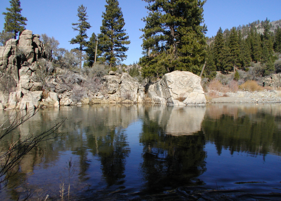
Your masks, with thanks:
M 9 116 L 3 116 L 4 123 L 0 125 L 0 141 L 7 141 L 11 137 L 9 145 L 1 148 L 0 153 L 0 189 L 7 186 L 8 180 L 19 170 L 19 163 L 40 142 L 61 136 L 57 133 L 58 127 L 65 121 L 55 124 L 52 128 L 43 133 L 23 135 L 13 134 L 22 124 L 32 118 L 38 110 L 13 111 Z M 25 134 L 25 135 L 24 135 Z M 7 141 L 8 142 L 8 141 Z

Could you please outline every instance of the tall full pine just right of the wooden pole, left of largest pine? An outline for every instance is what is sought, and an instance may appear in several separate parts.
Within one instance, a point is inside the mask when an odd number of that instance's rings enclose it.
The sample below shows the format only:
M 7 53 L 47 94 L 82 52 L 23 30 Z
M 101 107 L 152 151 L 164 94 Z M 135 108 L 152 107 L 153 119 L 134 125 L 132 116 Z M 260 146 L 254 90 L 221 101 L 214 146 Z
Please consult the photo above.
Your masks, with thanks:
M 101 61 L 106 62 L 110 68 L 114 68 L 127 57 L 125 52 L 130 44 L 129 36 L 123 29 L 125 22 L 119 2 L 117 0 L 106 0 L 106 12 L 102 14 L 101 34 L 98 35 L 99 50 L 102 51 Z

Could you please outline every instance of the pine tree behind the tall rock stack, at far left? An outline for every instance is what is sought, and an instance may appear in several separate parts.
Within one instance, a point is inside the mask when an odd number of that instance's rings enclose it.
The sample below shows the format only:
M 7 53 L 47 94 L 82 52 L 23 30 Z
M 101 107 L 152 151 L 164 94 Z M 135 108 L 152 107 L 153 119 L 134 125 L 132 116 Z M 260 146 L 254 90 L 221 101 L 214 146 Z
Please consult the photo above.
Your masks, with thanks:
M 4 30 L 6 32 L 11 32 L 14 34 L 14 39 L 17 37 L 17 33 L 24 31 L 27 19 L 22 16 L 19 0 L 11 0 L 10 8 L 6 8 L 7 13 L 3 12 L 5 15 Z

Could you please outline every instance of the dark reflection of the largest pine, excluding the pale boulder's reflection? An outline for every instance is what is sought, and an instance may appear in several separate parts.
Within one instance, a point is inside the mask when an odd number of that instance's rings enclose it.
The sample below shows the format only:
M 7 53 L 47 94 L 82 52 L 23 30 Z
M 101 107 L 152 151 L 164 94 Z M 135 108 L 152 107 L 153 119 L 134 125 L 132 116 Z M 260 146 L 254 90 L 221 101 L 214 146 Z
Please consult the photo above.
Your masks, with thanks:
M 144 191 L 157 193 L 163 189 L 186 185 L 202 185 L 196 179 L 205 171 L 203 148 L 205 137 L 202 131 L 194 135 L 174 136 L 165 132 L 156 120 L 145 113 L 143 132 L 140 142 L 143 144 Z

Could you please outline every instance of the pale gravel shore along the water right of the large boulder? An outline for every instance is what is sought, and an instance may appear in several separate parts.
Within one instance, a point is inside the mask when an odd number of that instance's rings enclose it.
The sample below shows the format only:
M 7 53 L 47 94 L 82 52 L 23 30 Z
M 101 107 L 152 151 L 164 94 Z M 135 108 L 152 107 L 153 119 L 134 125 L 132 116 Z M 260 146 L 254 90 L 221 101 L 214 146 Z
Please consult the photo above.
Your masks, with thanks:
M 215 95 L 214 98 L 210 98 Z M 206 93 L 207 103 L 281 103 L 281 91 L 237 91 L 219 92 L 210 90 Z

